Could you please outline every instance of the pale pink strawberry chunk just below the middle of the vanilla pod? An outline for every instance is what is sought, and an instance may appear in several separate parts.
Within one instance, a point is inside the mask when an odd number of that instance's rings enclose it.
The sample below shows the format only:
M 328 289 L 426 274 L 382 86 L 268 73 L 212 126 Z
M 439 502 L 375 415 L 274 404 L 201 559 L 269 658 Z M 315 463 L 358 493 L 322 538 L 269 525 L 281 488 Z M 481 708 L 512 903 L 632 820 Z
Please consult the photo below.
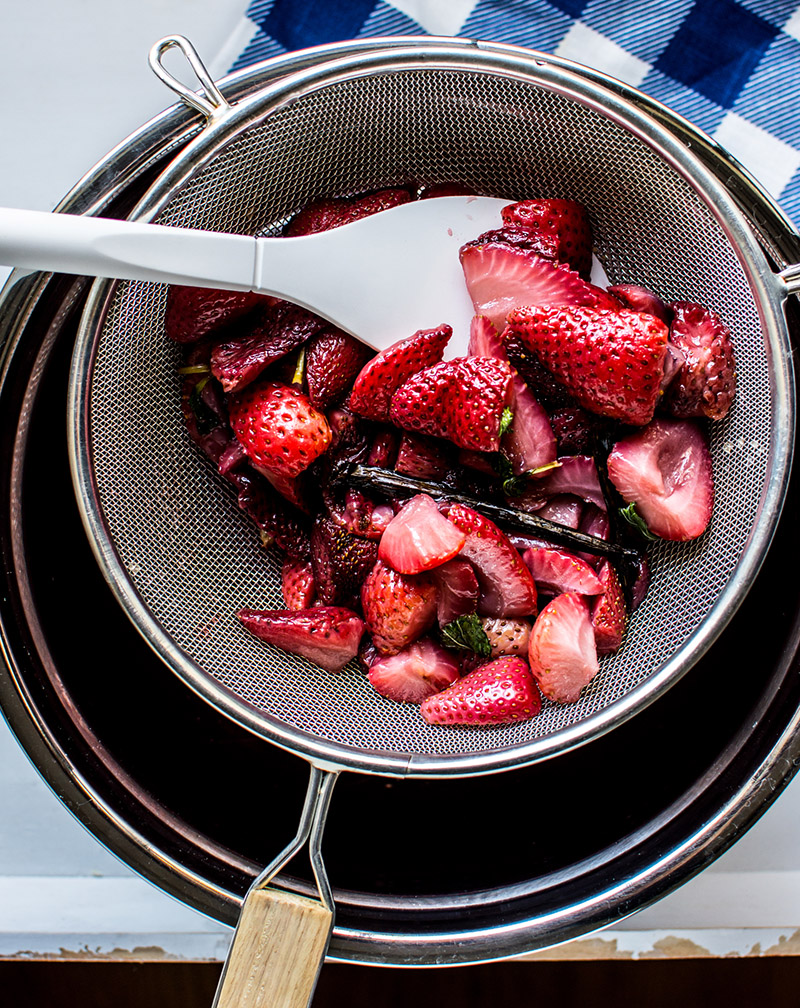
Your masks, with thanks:
M 400 574 L 421 574 L 452 559 L 465 539 L 432 497 L 417 494 L 389 522 L 378 556 Z

